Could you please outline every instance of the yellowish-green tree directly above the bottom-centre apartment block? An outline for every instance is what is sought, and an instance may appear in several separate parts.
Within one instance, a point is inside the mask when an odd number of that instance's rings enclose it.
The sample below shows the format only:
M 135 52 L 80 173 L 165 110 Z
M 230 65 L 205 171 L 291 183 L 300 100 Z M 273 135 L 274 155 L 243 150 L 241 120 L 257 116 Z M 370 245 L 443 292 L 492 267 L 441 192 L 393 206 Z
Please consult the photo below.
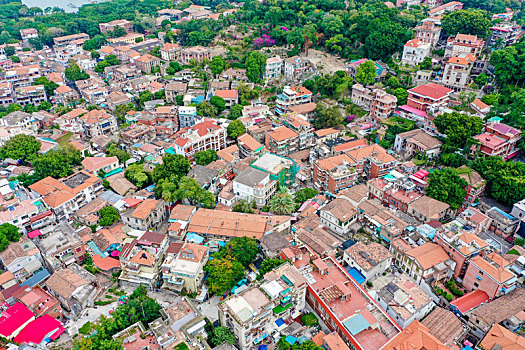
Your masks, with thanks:
M 244 277 L 244 267 L 236 260 L 208 260 L 204 270 L 208 273 L 210 292 L 214 294 L 230 291 Z

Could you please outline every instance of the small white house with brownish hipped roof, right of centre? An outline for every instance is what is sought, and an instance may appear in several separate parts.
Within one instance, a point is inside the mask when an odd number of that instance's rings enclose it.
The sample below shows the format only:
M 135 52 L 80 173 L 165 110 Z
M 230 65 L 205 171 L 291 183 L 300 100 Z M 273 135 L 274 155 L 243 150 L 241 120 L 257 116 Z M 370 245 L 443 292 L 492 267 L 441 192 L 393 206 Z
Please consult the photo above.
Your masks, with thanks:
M 338 235 L 350 233 L 350 226 L 357 220 L 357 210 L 345 198 L 336 198 L 319 209 L 321 222 Z

